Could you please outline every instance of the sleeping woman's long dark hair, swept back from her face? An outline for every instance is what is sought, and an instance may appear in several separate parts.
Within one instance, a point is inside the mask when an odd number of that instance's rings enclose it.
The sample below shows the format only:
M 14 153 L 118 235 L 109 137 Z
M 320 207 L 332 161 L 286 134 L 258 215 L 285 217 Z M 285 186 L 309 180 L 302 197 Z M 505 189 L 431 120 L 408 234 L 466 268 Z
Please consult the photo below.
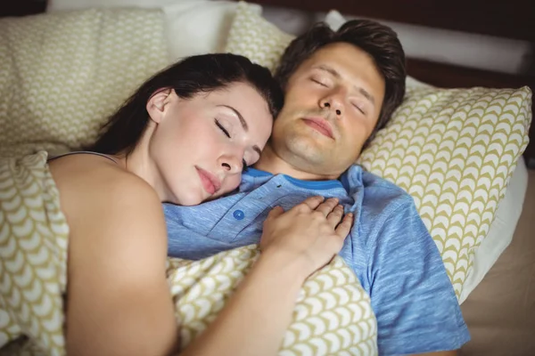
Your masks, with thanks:
M 252 85 L 268 101 L 271 115 L 278 115 L 284 93 L 268 69 L 231 53 L 196 55 L 163 69 L 141 85 L 103 125 L 101 136 L 86 150 L 131 153 L 149 123 L 146 104 L 162 89 L 173 89 L 179 98 L 191 99 L 197 93 L 210 93 L 239 82 Z

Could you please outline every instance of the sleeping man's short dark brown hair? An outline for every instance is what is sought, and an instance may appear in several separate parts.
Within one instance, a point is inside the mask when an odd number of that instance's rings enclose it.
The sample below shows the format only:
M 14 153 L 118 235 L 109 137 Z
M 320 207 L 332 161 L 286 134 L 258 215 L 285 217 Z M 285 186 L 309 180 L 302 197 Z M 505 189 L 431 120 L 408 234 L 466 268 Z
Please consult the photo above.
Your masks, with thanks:
M 383 107 L 374 131 L 364 144 L 366 147 L 377 131 L 389 122 L 405 95 L 405 52 L 391 28 L 373 20 L 350 20 L 338 31 L 333 31 L 325 23 L 318 23 L 288 45 L 275 77 L 285 89 L 292 74 L 312 54 L 327 44 L 339 42 L 356 45 L 368 53 L 384 78 Z

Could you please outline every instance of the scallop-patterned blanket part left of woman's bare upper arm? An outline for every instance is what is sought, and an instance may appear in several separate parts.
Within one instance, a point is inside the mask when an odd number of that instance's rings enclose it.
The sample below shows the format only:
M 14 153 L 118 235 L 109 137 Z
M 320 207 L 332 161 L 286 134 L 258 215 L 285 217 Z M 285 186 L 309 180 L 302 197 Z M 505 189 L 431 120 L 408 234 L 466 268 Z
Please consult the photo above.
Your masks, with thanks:
M 9 354 L 64 354 L 69 227 L 46 158 L 0 158 L 0 347 L 32 341 Z

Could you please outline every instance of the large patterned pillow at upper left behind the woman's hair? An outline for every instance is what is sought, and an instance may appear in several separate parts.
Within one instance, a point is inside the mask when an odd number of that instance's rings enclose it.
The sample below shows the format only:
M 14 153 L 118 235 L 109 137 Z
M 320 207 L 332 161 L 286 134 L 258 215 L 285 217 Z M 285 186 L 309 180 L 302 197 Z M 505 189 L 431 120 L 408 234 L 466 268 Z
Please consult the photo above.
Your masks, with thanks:
M 0 20 L 0 156 L 93 142 L 111 113 L 168 64 L 159 10 Z

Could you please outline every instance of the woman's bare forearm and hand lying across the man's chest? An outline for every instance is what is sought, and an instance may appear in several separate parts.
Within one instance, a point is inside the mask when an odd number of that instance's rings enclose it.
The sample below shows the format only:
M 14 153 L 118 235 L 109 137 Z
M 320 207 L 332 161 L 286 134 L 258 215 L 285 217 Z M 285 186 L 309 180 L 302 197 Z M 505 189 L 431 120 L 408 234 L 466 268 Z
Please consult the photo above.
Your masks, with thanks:
M 262 254 L 210 327 L 182 355 L 275 355 L 303 281 L 342 248 L 352 218 L 309 198 L 264 224 Z M 333 213 L 331 213 L 333 211 Z

